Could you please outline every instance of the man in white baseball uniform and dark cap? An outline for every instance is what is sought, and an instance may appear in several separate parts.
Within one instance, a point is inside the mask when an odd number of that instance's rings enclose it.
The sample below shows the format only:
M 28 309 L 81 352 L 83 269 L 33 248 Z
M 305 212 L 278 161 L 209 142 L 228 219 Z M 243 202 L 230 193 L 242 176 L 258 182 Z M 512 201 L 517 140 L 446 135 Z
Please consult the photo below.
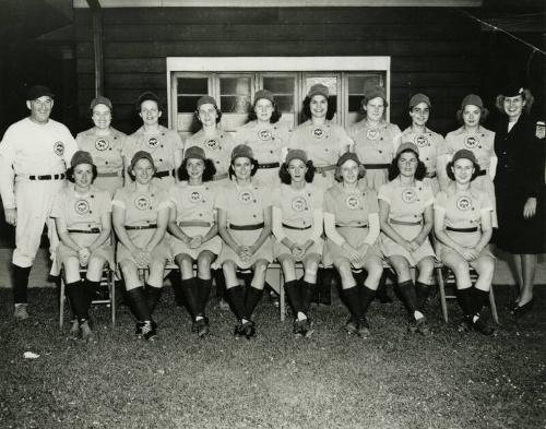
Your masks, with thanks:
M 0 194 L 5 222 L 15 227 L 13 297 L 19 320 L 28 318 L 31 267 L 54 198 L 66 186 L 67 166 L 78 150 L 68 128 L 49 118 L 54 97 L 46 86 L 31 87 L 26 97 L 31 115 L 8 128 L 0 142 Z M 48 228 L 50 242 L 52 233 Z

